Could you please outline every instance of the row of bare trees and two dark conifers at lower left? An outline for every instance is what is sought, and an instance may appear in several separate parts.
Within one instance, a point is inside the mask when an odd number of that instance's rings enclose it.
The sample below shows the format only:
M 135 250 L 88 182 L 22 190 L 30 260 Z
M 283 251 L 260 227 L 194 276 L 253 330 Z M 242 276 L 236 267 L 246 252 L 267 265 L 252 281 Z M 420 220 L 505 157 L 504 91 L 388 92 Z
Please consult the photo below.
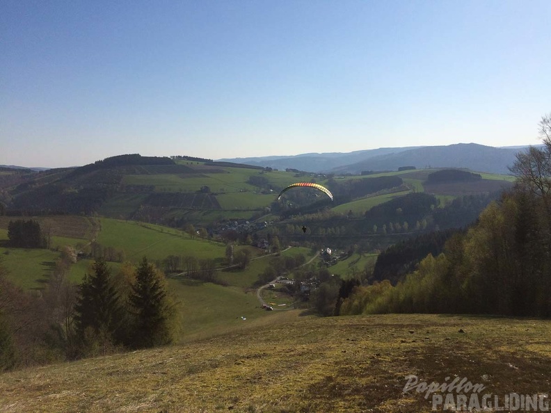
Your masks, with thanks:
M 97 259 L 79 285 L 56 262 L 37 294 L 6 279 L 0 266 L 0 371 L 170 343 L 175 302 L 163 273 L 144 257 L 113 273 Z

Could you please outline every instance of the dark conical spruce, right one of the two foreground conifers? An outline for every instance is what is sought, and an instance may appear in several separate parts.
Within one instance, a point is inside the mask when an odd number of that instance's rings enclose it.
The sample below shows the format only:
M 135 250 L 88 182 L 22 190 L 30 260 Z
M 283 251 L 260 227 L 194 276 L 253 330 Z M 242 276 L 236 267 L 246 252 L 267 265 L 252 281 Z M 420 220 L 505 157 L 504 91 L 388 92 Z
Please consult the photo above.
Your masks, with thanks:
M 145 257 L 136 270 L 129 301 L 134 312 L 134 347 L 148 348 L 172 341 L 166 286 L 162 275 Z

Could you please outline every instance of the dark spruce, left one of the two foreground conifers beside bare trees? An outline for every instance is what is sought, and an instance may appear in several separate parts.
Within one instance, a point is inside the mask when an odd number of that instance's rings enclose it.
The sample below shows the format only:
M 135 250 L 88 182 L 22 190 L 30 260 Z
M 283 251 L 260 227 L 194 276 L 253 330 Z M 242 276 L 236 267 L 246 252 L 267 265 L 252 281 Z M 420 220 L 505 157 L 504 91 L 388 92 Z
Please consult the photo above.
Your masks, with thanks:
M 119 299 L 110 268 L 104 259 L 96 259 L 93 273 L 84 275 L 75 305 L 77 337 L 84 353 L 95 353 L 99 347 L 105 354 L 122 341 L 119 330 L 125 319 Z

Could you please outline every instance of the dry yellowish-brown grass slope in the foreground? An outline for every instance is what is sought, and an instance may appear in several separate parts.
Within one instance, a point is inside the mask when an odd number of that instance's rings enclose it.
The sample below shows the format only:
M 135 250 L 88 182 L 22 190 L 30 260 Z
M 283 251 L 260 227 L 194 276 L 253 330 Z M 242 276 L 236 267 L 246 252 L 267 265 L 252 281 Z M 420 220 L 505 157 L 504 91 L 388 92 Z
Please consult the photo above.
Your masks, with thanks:
M 550 389 L 551 323 L 438 315 L 272 322 L 182 346 L 0 375 L 2 412 L 429 412 L 405 376 Z M 463 332 L 459 332 L 459 330 Z

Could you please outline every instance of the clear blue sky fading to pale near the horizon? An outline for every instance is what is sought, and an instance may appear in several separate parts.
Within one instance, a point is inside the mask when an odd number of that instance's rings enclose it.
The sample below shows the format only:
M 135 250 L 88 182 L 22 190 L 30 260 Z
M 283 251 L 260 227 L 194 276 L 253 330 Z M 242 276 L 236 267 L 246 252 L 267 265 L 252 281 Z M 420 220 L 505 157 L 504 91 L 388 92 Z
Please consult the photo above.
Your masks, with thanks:
M 551 1 L 0 1 L 0 164 L 540 143 Z

